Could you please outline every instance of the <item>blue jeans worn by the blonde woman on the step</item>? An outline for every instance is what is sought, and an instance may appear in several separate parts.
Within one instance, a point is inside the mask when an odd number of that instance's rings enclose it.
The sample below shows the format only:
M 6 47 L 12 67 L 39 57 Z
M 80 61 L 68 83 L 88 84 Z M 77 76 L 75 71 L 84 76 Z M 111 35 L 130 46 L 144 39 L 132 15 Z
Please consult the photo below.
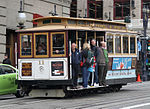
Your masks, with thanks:
M 89 77 L 90 77 L 90 72 L 87 71 L 87 67 L 83 67 L 82 68 L 83 87 L 87 87 Z

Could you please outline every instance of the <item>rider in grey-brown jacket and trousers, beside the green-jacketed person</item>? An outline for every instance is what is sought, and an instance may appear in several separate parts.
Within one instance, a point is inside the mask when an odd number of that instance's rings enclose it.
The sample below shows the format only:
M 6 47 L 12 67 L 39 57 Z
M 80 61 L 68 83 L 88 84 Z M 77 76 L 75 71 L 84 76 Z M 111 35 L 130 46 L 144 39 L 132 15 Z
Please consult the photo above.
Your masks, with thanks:
M 99 47 L 100 56 L 98 57 L 98 79 L 99 79 L 99 85 L 103 86 L 103 76 L 104 76 L 104 68 L 106 66 L 105 56 L 102 49 L 102 44 L 100 43 Z

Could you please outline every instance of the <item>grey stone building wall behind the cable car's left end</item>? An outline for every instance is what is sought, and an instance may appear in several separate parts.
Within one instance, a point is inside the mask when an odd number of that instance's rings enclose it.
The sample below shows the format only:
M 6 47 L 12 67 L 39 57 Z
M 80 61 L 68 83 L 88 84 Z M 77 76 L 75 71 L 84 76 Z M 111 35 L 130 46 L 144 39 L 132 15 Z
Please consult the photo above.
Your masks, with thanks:
M 33 27 L 32 19 L 40 16 L 50 16 L 56 7 L 58 16 L 70 16 L 71 0 L 0 0 L 0 63 L 7 53 L 15 66 L 15 42 L 18 29 L 17 16 L 22 1 L 26 14 L 25 28 Z

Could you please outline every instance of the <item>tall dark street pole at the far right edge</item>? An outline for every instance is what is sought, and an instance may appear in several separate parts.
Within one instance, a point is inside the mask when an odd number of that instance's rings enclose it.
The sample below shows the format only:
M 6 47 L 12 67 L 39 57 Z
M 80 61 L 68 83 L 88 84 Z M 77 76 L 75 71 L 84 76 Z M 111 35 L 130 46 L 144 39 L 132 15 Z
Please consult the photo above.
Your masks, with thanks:
M 144 40 L 142 44 L 142 51 L 143 51 L 143 80 L 147 81 L 147 71 L 146 71 L 146 57 L 147 57 L 147 41 L 146 41 L 146 30 L 147 30 L 147 24 L 148 24 L 148 14 L 149 10 L 148 8 L 144 7 L 143 8 L 143 28 L 144 28 Z

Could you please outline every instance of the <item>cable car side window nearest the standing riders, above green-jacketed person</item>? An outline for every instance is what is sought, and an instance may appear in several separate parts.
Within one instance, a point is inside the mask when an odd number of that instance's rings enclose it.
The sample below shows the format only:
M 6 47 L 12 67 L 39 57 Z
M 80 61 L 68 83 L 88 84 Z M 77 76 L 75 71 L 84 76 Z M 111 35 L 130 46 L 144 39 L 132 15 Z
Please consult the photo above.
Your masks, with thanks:
M 113 35 L 107 35 L 108 53 L 113 53 Z

